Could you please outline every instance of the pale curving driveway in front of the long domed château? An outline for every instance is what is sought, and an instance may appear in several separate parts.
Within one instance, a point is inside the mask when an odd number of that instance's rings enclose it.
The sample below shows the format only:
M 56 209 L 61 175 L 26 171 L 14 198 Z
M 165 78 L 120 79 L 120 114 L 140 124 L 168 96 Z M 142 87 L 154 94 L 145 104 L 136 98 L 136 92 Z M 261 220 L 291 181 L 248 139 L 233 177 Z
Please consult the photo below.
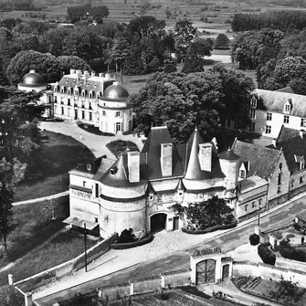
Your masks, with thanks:
M 73 137 L 79 142 L 84 143 L 95 157 L 100 157 L 106 154 L 108 158 L 114 159 L 111 151 L 106 147 L 106 144 L 118 139 L 124 141 L 130 141 L 136 143 L 138 149 L 141 151 L 143 146 L 143 137 L 137 137 L 130 135 L 117 134 L 115 136 L 101 136 L 86 132 L 79 128 L 76 121 L 63 121 L 63 122 L 52 122 L 52 121 L 41 121 L 39 125 L 41 130 L 47 130 L 50 132 L 59 132 L 68 136 Z M 80 137 L 81 135 L 81 137 Z

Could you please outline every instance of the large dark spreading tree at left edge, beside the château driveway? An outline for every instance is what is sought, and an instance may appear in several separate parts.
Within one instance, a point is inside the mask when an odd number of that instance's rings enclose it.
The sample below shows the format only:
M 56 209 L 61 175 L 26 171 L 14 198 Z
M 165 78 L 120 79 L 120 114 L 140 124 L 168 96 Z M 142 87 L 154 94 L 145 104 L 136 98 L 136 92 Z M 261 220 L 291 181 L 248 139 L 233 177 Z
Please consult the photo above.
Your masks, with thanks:
M 41 139 L 38 120 L 45 106 L 40 93 L 0 89 L 0 151 L 9 163 L 17 158 L 28 164 L 27 173 L 37 173 Z

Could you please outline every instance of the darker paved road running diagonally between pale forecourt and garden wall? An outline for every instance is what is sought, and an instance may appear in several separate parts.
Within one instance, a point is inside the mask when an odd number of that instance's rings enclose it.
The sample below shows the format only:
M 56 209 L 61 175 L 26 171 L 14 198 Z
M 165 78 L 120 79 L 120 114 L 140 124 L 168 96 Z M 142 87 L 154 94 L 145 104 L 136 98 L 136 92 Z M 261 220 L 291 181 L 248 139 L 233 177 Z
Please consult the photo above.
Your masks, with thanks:
M 296 216 L 303 211 L 306 211 L 306 195 L 292 201 L 287 206 L 282 206 L 279 210 L 272 212 L 267 216 L 260 218 L 260 227 L 263 231 L 283 227 L 288 225 Z M 126 282 L 132 279 L 139 279 L 150 275 L 159 275 L 161 272 L 174 269 L 183 269 L 189 267 L 189 252 L 197 248 L 211 248 L 221 247 L 224 251 L 230 251 L 238 246 L 248 242 L 248 237 L 254 232 L 254 226 L 257 220 L 252 221 L 242 227 L 234 228 L 225 234 L 218 237 L 206 239 L 193 246 L 192 248 L 184 249 L 172 255 L 168 255 L 163 259 L 156 259 L 147 262 L 142 262 L 139 265 L 124 269 L 110 275 L 106 275 L 96 280 L 90 280 L 84 284 L 68 290 L 59 291 L 44 298 L 37 300 L 40 305 L 52 305 L 53 303 L 65 301 L 72 298 L 76 292 L 85 293 L 95 290 L 98 287 L 107 286 L 111 284 Z M 165 245 L 164 248 L 167 248 Z

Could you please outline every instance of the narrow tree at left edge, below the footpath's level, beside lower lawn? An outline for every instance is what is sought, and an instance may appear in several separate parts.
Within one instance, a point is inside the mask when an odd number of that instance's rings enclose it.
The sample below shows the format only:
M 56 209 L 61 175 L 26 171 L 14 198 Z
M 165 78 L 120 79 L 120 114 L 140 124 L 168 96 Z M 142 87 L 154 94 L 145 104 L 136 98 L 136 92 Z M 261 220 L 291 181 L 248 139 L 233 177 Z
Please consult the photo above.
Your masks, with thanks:
M 14 192 L 16 185 L 24 178 L 25 171 L 26 164 L 21 164 L 16 159 L 8 163 L 3 158 L 0 162 L 0 234 L 4 242 L 5 255 L 7 253 L 6 238 L 12 230 Z

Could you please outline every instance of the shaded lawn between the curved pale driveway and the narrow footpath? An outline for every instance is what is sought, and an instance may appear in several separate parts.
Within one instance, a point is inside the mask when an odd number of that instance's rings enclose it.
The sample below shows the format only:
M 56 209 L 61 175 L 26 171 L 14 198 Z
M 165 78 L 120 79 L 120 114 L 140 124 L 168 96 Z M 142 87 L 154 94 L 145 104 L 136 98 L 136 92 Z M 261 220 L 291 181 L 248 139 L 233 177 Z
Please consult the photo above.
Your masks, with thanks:
M 55 195 L 69 189 L 69 170 L 94 158 L 83 143 L 56 132 L 42 131 L 44 138 L 41 177 L 16 188 L 15 201 Z

